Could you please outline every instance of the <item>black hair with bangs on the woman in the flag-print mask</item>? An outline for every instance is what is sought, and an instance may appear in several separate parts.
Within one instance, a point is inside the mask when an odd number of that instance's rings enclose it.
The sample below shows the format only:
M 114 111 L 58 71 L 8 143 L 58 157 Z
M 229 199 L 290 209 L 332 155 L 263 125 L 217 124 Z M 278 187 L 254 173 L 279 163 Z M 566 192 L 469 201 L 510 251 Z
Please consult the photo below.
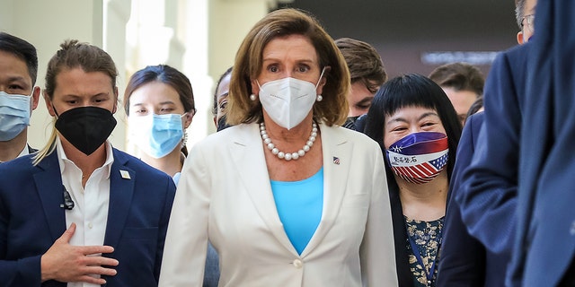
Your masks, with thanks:
M 446 129 L 447 134 L 449 146 L 447 177 L 451 178 L 456 163 L 457 143 L 459 143 L 462 126 L 446 93 L 428 77 L 420 74 L 404 74 L 384 83 L 377 91 L 371 108 L 367 112 L 364 134 L 379 143 L 385 154 L 385 119 L 394 115 L 399 109 L 406 107 L 435 109 L 438 112 L 441 124 Z M 394 173 L 387 161 L 385 161 L 385 169 L 388 179 L 394 178 Z

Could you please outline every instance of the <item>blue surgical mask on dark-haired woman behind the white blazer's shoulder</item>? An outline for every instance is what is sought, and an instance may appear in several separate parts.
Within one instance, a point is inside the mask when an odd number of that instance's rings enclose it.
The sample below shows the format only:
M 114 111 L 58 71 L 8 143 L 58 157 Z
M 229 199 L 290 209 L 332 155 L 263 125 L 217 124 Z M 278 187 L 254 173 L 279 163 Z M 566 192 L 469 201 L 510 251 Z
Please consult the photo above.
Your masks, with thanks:
M 181 146 L 183 125 L 181 117 L 187 115 L 166 114 L 128 117 L 130 140 L 147 155 L 159 159 Z

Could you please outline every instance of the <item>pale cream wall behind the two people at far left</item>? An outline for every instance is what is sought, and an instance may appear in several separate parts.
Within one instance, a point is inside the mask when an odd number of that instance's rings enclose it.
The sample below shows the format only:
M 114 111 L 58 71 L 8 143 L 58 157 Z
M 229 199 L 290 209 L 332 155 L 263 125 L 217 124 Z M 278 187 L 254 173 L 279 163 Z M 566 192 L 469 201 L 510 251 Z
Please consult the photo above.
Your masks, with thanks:
M 94 10 L 94 7 L 100 8 Z M 44 87 L 49 59 L 65 39 L 78 39 L 102 47 L 102 0 L 58 0 L 57 4 L 52 1 L 3 0 L 0 11 L 0 29 L 26 39 L 36 47 L 39 60 L 36 85 L 41 88 Z M 4 18 L 4 14 L 19 16 Z M 31 126 L 28 128 L 31 146 L 41 148 L 46 144 L 52 130 L 51 119 L 44 100 L 40 98 L 40 104 L 32 112 Z M 113 144 L 121 148 L 123 136 L 119 137 L 121 140 Z

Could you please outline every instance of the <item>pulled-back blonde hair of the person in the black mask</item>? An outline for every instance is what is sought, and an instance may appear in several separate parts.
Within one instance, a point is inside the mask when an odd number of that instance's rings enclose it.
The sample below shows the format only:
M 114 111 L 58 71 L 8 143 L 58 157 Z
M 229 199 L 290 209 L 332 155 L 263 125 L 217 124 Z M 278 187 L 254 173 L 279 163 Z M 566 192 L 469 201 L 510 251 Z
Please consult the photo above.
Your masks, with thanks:
M 118 69 L 110 55 L 102 48 L 88 43 L 79 43 L 77 39 L 68 39 L 60 45 L 56 55 L 50 58 L 46 71 L 46 88 L 43 91 L 44 98 L 52 100 L 56 89 L 56 77 L 58 74 L 80 67 L 84 72 L 102 72 L 111 78 L 112 88 L 116 87 Z M 118 94 L 116 94 L 118 97 Z M 55 127 L 56 117 L 52 118 L 52 133 L 48 143 L 34 156 L 32 164 L 37 165 L 56 148 L 57 130 Z

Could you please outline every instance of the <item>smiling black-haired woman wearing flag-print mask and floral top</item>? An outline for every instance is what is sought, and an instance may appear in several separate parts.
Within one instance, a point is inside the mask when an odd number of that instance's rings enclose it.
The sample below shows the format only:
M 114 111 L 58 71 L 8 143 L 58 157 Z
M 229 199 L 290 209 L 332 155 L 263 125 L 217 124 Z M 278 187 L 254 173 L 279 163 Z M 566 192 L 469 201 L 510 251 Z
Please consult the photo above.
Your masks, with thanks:
M 400 286 L 435 286 L 461 130 L 445 92 L 420 74 L 384 83 L 367 113 L 364 133 L 385 157 Z

